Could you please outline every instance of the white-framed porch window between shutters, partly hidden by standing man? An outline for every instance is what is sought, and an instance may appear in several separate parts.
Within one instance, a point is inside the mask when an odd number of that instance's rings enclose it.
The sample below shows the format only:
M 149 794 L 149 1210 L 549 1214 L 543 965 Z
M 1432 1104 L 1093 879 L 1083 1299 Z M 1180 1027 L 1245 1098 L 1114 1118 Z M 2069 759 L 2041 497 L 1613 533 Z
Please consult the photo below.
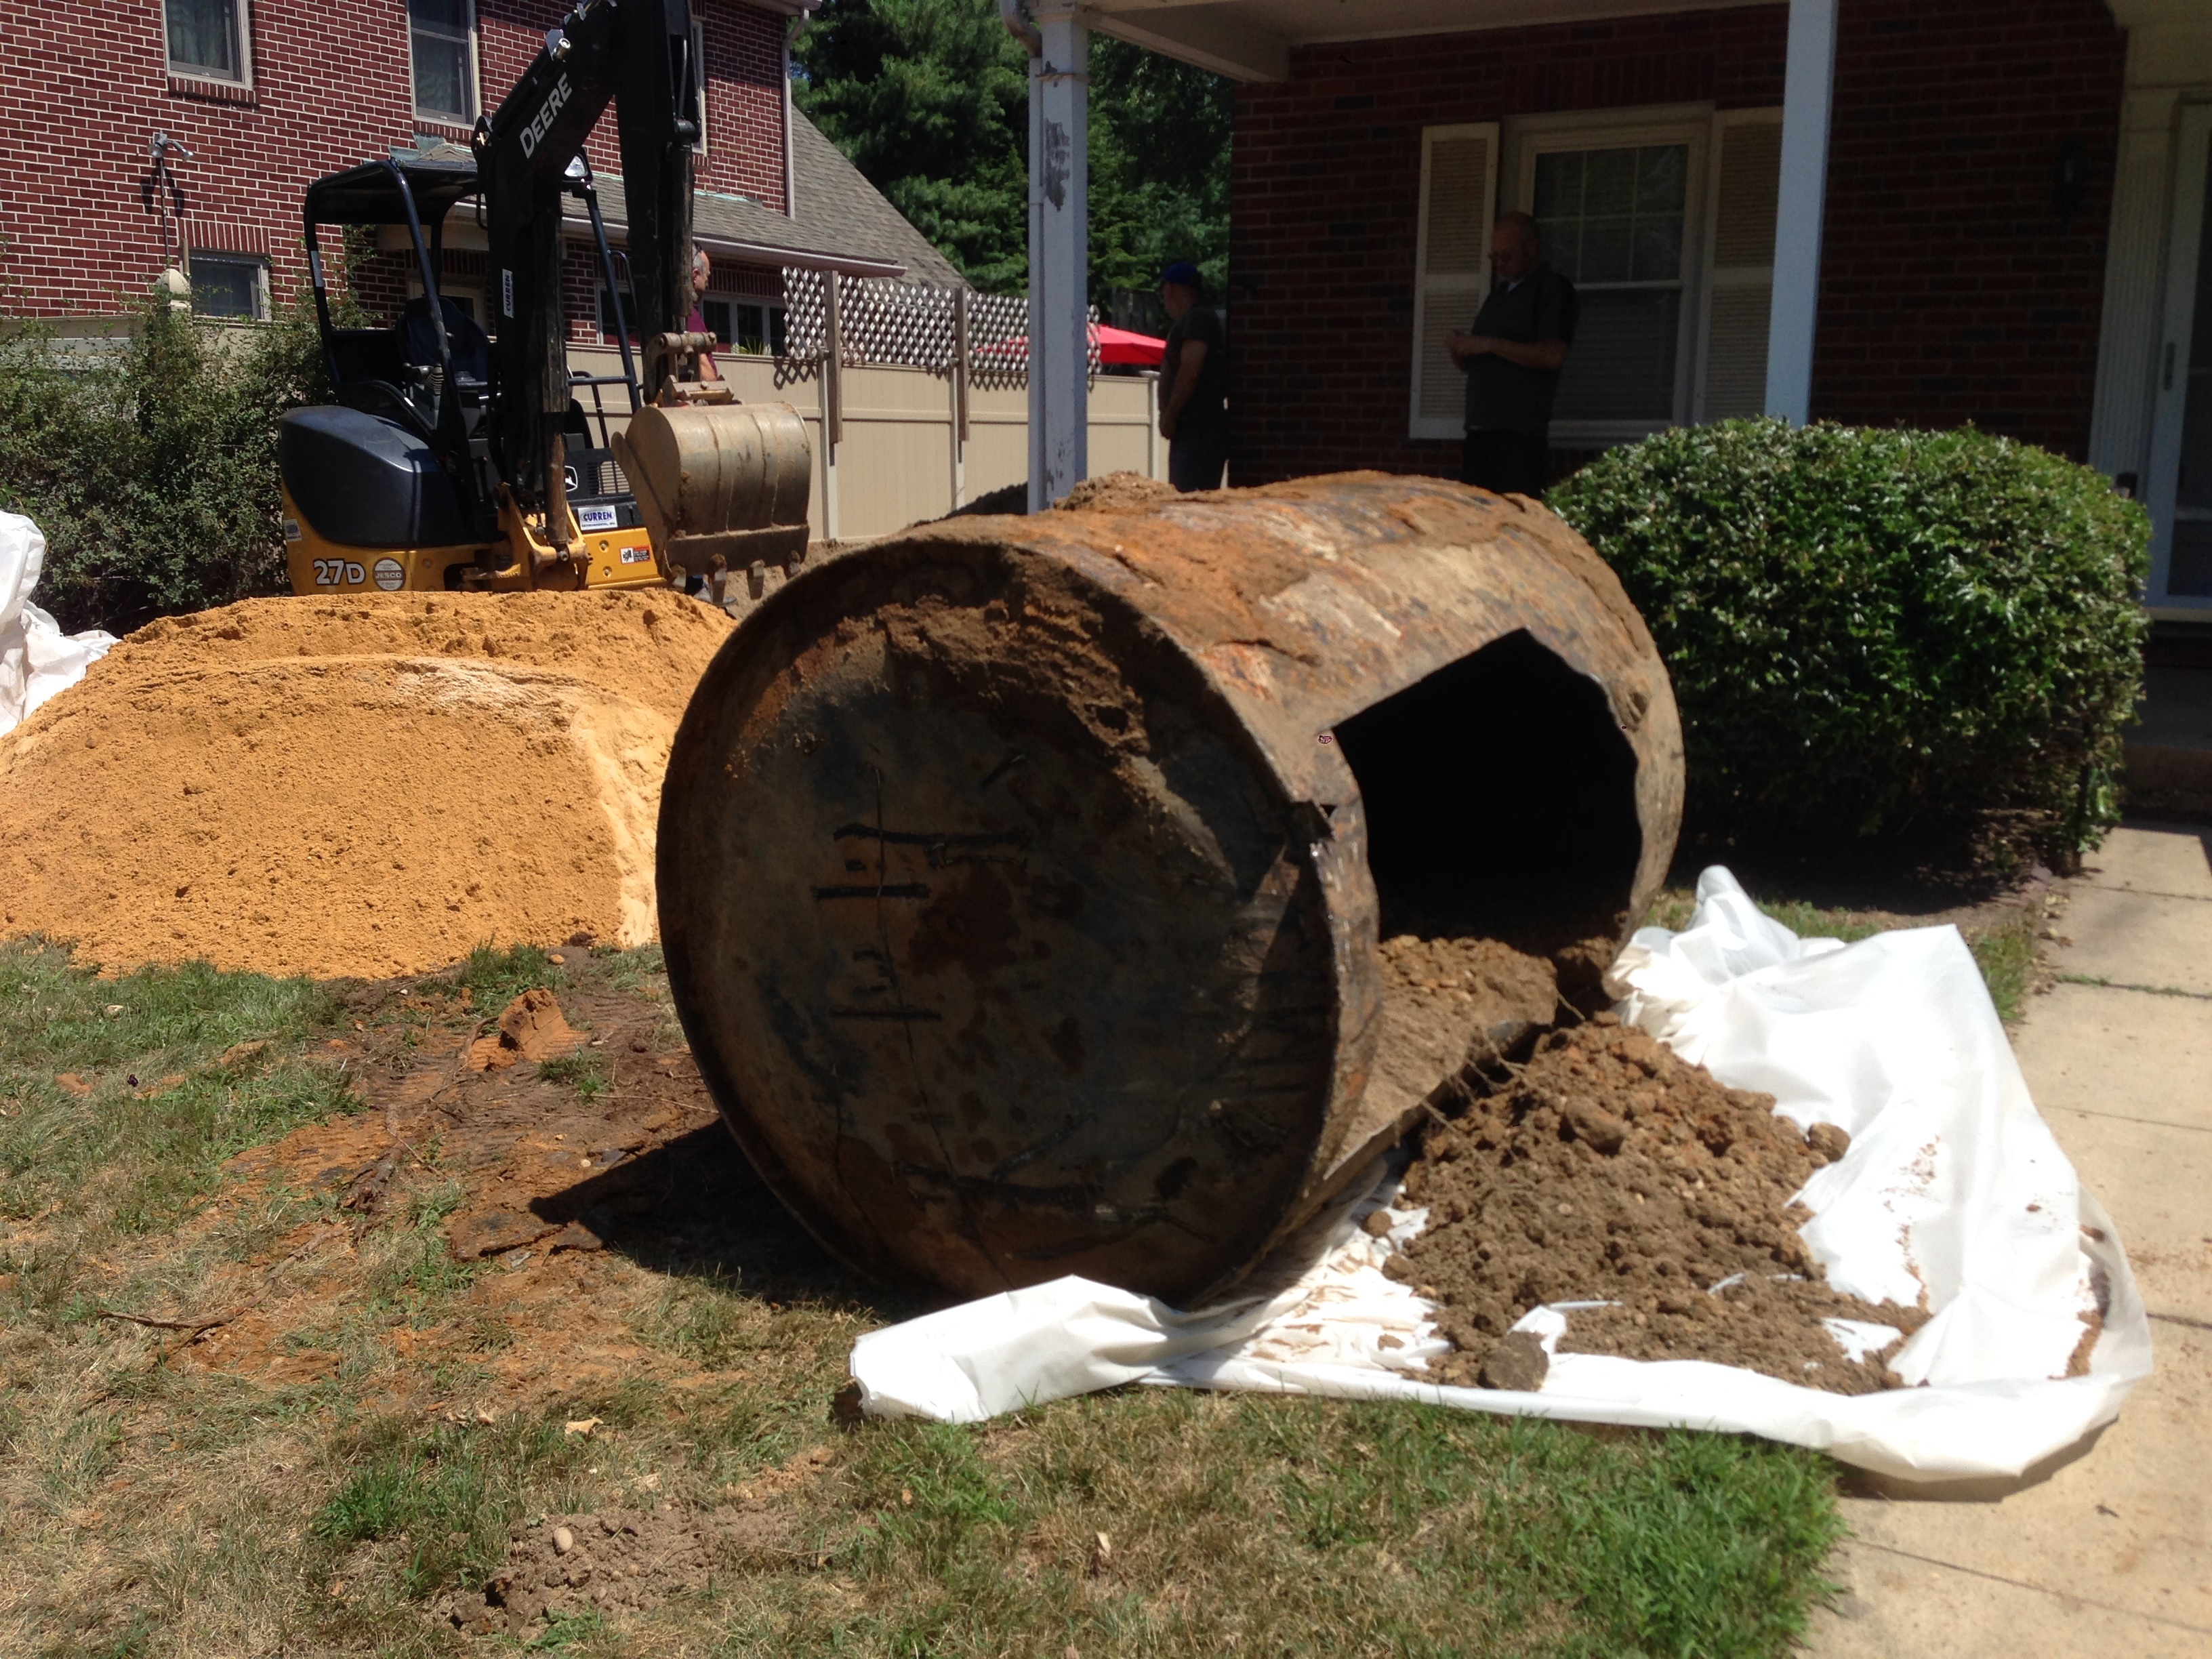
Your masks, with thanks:
M 1533 186 L 1544 259 L 1582 294 L 1553 420 L 1672 422 L 1690 146 L 1544 150 Z

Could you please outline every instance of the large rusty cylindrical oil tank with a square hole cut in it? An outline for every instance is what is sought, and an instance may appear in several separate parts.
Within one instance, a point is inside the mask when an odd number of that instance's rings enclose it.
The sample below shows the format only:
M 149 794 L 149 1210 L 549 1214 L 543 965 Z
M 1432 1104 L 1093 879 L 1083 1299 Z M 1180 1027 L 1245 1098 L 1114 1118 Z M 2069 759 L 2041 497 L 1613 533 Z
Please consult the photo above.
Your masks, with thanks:
M 1526 498 L 951 518 L 714 659 L 661 940 L 730 1128 L 847 1263 L 1192 1305 L 1420 1113 L 1374 1075 L 1378 927 L 1617 942 L 1681 785 L 1650 633 Z

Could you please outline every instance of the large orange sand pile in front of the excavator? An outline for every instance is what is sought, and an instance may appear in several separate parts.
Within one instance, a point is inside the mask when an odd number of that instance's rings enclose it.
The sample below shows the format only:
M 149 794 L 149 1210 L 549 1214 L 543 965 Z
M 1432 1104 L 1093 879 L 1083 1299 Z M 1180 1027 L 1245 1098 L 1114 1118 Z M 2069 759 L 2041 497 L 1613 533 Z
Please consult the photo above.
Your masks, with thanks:
M 0 936 L 365 978 L 648 942 L 668 743 L 730 628 L 657 588 L 153 622 L 0 739 Z

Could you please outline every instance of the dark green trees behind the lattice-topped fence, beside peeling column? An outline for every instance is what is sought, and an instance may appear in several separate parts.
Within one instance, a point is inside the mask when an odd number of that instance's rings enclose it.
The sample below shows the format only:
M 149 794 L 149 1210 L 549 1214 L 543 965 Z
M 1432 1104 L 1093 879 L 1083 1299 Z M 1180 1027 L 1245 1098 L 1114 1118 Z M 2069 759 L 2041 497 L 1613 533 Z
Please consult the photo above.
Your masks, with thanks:
M 799 106 L 987 292 L 1029 281 L 1029 60 L 995 0 L 825 0 Z M 1091 296 L 1190 259 L 1228 279 L 1230 82 L 1091 38 Z

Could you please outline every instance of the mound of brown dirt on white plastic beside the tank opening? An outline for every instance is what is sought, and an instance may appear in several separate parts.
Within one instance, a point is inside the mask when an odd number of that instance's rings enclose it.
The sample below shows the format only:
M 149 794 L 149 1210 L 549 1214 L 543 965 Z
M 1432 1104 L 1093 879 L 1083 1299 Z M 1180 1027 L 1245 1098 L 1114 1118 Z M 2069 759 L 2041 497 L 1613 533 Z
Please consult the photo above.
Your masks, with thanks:
M 1544 1037 L 1509 1075 L 1436 1124 L 1405 1179 L 1429 1223 L 1387 1272 L 1440 1307 L 1458 1349 L 1440 1380 L 1495 1387 L 1522 1358 L 1502 1347 L 1522 1314 L 1606 1301 L 1568 1316 L 1562 1352 L 1714 1360 L 1836 1394 L 1898 1387 L 1882 1360 L 1927 1312 L 1836 1292 L 1798 1237 L 1792 1194 L 1845 1155 L 1843 1130 L 1801 1137 L 1772 1095 L 1723 1088 L 1613 1015 Z M 1902 1336 L 1851 1358 L 1827 1318 Z

